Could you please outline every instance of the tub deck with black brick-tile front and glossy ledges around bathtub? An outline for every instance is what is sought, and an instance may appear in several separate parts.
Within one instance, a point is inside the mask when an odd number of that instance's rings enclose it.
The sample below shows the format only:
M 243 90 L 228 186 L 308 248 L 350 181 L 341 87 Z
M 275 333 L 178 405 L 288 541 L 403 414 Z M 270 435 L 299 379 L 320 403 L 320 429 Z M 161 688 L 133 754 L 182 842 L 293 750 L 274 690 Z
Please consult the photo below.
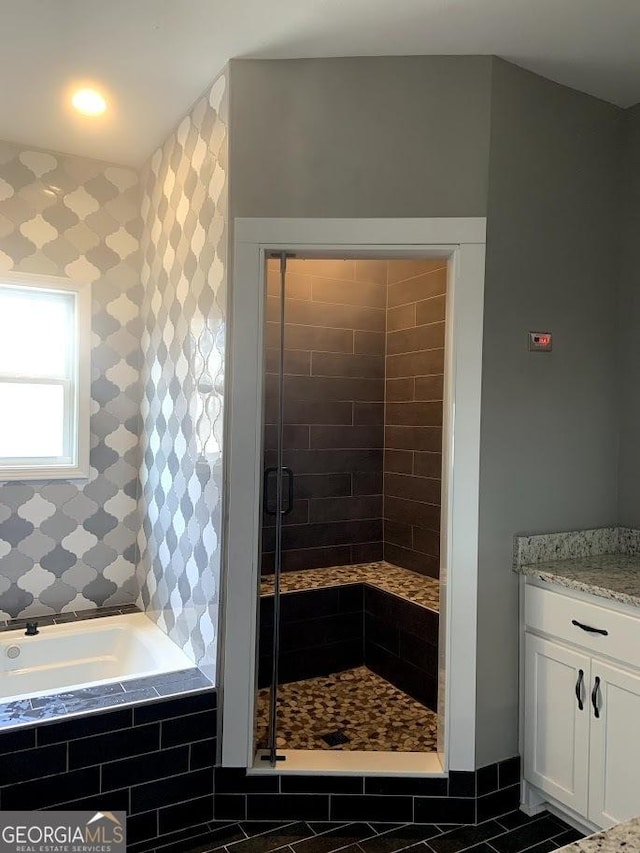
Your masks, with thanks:
M 44 628 L 136 611 L 29 621 Z M 21 642 L 25 625 L 11 620 L 1 636 Z M 195 666 L 5 702 L 0 810 L 123 810 L 127 850 L 152 850 L 214 818 L 216 727 L 215 688 Z

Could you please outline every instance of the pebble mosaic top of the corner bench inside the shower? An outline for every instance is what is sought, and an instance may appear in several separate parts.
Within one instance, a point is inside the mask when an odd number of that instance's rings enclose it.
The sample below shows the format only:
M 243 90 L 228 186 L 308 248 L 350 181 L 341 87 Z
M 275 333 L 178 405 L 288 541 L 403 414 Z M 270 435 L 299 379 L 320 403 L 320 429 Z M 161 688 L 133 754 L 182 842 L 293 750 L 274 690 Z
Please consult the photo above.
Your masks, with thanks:
M 377 563 L 283 572 L 280 589 L 282 592 L 302 592 L 309 589 L 346 586 L 352 583 L 370 584 L 384 592 L 390 592 L 392 595 L 436 612 L 440 608 L 438 580 L 394 566 L 384 560 Z M 263 576 L 260 582 L 260 595 L 273 595 L 273 575 Z

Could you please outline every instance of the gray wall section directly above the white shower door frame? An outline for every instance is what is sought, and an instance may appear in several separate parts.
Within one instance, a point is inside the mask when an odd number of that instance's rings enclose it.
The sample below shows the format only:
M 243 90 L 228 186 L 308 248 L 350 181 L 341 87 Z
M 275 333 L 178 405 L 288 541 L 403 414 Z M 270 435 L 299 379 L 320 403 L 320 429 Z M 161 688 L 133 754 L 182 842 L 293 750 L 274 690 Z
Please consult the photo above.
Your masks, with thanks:
M 235 60 L 232 216 L 484 216 L 490 57 Z

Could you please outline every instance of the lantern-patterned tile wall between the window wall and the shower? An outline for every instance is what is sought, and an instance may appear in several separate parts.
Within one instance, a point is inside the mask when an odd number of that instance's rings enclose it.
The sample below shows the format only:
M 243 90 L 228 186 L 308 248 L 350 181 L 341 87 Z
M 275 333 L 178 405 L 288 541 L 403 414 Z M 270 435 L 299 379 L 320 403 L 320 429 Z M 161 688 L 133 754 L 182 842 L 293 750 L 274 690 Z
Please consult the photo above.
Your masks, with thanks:
M 227 240 L 221 75 L 143 177 L 140 606 L 214 677 Z

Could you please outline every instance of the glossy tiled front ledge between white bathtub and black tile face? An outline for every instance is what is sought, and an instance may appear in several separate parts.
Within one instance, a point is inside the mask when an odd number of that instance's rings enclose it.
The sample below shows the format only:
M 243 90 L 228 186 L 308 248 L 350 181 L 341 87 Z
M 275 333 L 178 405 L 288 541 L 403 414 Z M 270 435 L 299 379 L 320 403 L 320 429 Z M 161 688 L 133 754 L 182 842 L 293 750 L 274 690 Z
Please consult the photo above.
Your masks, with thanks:
M 212 689 L 213 685 L 197 667 L 128 681 L 67 690 L 33 699 L 17 699 L 0 704 L 0 732 L 76 714 L 153 702 L 171 696 Z

